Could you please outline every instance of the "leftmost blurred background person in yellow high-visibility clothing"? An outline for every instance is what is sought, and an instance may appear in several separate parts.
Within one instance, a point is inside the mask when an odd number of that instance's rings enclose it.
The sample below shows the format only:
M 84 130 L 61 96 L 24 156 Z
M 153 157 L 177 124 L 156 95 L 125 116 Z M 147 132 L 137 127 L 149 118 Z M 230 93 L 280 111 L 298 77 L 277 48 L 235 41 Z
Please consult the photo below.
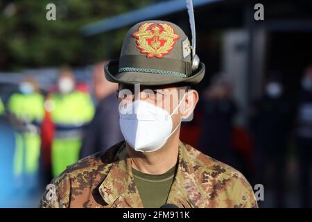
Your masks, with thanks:
M 8 112 L 15 128 L 14 175 L 17 187 L 35 191 L 40 163 L 40 124 L 44 118 L 44 96 L 34 78 L 19 83 L 19 92 L 8 101 Z

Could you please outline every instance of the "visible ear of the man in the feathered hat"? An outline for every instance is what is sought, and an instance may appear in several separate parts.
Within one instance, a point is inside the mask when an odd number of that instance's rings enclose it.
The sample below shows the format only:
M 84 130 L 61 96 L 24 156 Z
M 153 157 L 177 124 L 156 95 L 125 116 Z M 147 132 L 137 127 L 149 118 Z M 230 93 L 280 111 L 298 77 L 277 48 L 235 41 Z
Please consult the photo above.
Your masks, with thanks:
M 182 119 L 189 119 L 190 117 L 193 119 L 193 111 L 199 99 L 198 92 L 194 89 L 189 89 L 187 92 L 185 92 L 185 94 L 186 95 L 184 96 L 184 105 L 181 112 L 181 117 Z

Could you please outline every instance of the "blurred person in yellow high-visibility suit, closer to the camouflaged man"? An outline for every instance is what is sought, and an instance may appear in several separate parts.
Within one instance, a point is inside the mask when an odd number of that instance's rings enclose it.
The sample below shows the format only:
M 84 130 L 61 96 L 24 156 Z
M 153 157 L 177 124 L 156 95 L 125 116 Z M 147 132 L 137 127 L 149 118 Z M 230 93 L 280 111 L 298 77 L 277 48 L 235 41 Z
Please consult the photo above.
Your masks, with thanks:
M 55 126 L 51 146 L 52 176 L 77 162 L 83 130 L 94 116 L 92 98 L 76 88 L 76 79 L 69 67 L 62 67 L 58 76 L 58 92 L 49 94 L 46 110 Z

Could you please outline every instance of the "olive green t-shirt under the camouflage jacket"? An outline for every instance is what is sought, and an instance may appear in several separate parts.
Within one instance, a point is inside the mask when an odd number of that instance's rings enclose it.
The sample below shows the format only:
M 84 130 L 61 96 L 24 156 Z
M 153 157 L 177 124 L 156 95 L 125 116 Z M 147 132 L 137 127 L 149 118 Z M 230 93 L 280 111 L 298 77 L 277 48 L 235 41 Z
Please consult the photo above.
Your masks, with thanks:
M 159 208 L 166 203 L 175 176 L 175 166 L 159 175 L 142 173 L 133 168 L 132 173 L 145 208 Z

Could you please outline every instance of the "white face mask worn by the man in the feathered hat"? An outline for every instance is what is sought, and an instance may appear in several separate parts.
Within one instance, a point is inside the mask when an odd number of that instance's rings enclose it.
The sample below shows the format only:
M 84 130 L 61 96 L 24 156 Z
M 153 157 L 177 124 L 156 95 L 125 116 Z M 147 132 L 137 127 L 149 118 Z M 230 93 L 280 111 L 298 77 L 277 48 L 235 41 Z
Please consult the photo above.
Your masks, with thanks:
M 125 141 L 135 151 L 140 152 L 153 152 L 162 148 L 167 139 L 180 126 L 181 121 L 172 130 L 171 117 L 180 107 L 184 96 L 171 114 L 157 105 L 142 100 L 136 100 L 127 104 L 126 107 L 119 108 L 119 123 Z

